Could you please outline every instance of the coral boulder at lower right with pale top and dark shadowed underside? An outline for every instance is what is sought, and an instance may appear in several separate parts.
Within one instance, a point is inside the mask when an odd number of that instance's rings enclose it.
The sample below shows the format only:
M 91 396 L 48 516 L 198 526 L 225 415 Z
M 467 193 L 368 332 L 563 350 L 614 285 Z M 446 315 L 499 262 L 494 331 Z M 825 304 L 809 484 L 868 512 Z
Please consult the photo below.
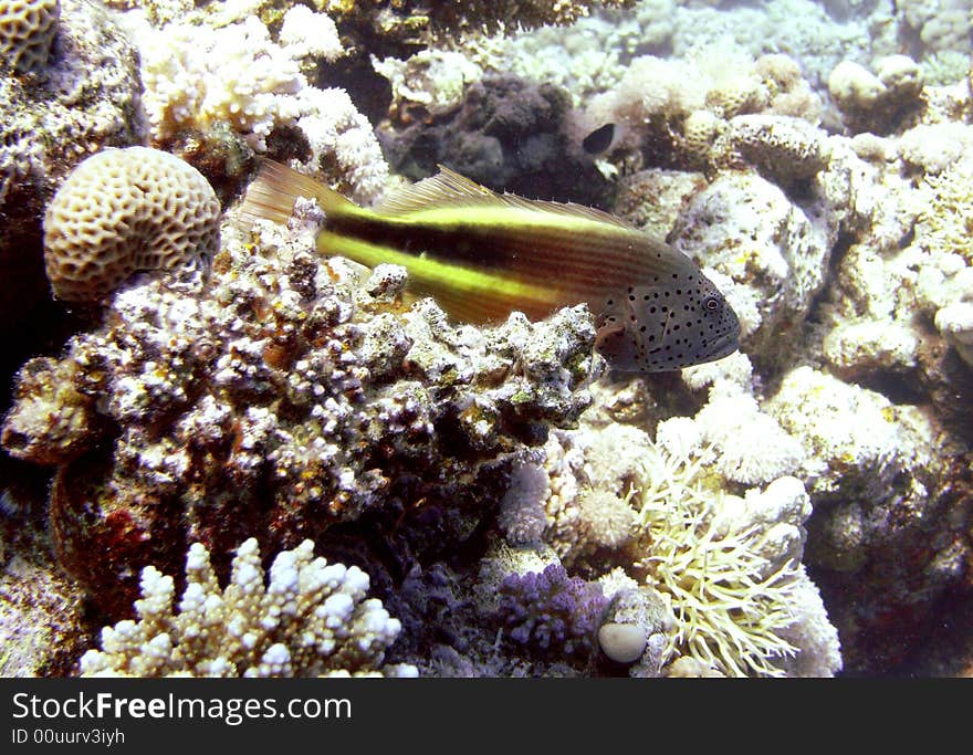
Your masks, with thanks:
M 964 486 L 953 464 L 965 462 L 949 461 L 950 448 L 917 407 L 809 367 L 788 373 L 766 408 L 808 451 L 808 560 L 829 570 L 830 589 L 851 596 L 834 607 L 839 626 L 870 633 L 881 625 L 870 652 L 888 662 L 965 573 L 969 506 L 953 490 Z M 899 617 L 908 620 L 894 626 Z M 857 650 L 852 658 L 869 662 Z

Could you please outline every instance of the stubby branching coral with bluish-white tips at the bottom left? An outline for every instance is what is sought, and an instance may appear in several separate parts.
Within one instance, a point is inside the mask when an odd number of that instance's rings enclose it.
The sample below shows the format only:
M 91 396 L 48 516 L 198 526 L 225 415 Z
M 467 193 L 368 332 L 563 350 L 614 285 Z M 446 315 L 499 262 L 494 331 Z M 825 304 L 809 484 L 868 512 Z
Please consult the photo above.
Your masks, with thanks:
M 257 541 L 233 558 L 220 589 L 209 552 L 195 543 L 186 557 L 186 590 L 172 611 L 172 577 L 142 573 L 137 621 L 102 630 L 102 650 L 81 658 L 83 677 L 415 675 L 409 665 L 381 667 L 401 623 L 366 598 L 357 566 L 314 558 L 304 541 L 278 554 L 264 584 Z

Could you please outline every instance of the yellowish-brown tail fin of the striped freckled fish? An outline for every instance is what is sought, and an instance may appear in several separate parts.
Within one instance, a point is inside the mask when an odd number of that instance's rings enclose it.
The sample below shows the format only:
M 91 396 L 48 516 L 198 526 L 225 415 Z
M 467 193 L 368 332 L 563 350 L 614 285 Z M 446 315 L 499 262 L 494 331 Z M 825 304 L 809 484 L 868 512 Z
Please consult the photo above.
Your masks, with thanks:
M 247 189 L 240 213 L 245 221 L 285 223 L 294 211 L 294 202 L 301 197 L 315 199 L 328 217 L 368 212 L 310 176 L 264 159 L 261 160 L 260 172 Z

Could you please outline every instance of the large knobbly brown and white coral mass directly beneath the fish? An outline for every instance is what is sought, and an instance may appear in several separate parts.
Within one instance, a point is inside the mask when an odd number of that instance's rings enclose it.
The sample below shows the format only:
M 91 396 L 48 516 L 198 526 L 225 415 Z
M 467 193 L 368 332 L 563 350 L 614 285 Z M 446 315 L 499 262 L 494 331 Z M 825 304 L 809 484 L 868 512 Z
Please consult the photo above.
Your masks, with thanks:
M 584 307 L 483 332 L 431 300 L 404 311 L 404 271 L 323 260 L 320 211 L 301 217 L 226 224 L 209 283 L 137 282 L 62 359 L 22 374 L 4 448 L 60 464 L 55 548 L 109 614 L 184 539 L 218 558 L 243 534 L 286 547 L 414 510 L 465 532 L 503 493 L 494 468 L 590 400 Z M 428 547 L 451 536 L 420 533 Z M 113 557 L 93 562 L 93 547 Z

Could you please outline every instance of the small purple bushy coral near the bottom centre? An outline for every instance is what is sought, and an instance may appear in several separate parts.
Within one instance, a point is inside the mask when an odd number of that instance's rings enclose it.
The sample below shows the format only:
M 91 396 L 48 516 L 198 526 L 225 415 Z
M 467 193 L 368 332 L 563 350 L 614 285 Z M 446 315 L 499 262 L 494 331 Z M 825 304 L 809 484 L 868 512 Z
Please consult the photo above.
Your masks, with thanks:
M 596 584 L 568 577 L 561 564 L 551 564 L 541 573 L 506 577 L 498 615 L 514 642 L 541 653 L 586 657 L 606 602 Z

